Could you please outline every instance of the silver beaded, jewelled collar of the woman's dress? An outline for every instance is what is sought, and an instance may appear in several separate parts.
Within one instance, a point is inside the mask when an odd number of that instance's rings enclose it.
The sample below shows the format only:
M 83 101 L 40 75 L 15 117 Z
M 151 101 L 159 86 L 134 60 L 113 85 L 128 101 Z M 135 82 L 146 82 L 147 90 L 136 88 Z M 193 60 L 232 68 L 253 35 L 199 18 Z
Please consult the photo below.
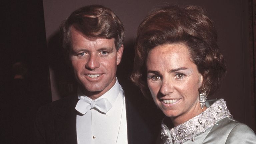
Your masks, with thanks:
M 188 140 L 195 140 L 195 136 L 215 125 L 218 120 L 232 117 L 223 99 L 217 100 L 204 112 L 172 129 L 162 123 L 161 141 L 163 144 L 182 144 Z

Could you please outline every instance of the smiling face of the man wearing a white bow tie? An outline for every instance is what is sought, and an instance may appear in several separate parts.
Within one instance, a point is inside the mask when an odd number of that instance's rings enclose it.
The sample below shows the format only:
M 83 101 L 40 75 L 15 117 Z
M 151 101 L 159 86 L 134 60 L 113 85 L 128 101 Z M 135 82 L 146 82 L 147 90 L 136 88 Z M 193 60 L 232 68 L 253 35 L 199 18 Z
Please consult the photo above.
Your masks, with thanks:
M 69 57 L 82 92 L 96 99 L 116 82 L 116 69 L 123 46 L 116 50 L 114 39 L 89 39 L 71 27 L 72 48 Z

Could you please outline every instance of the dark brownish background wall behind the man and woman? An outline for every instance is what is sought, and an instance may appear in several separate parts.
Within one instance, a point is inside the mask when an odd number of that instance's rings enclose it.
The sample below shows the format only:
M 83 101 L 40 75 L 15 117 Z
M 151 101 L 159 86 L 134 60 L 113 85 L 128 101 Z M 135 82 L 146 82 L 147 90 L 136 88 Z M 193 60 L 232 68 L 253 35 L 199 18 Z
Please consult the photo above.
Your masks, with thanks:
M 249 51 L 249 48 L 252 48 L 249 41 L 253 38 L 249 36 L 252 35 L 253 29 L 250 29 L 251 35 L 248 30 L 251 17 L 248 9 L 252 7 L 251 0 L 1 1 L 3 15 L 0 43 L 0 130 L 10 130 L 9 126 L 12 124 L 8 117 L 10 114 L 5 110 L 10 104 L 8 102 L 17 101 L 11 97 L 11 67 L 15 62 L 25 62 L 30 70 L 28 90 L 31 96 L 30 99 L 24 100 L 33 103 L 22 105 L 19 109 L 29 108 L 36 111 L 40 105 L 59 99 L 75 89 L 72 74 L 60 53 L 57 31 L 60 23 L 72 11 L 90 4 L 102 4 L 111 8 L 125 25 L 125 50 L 117 76 L 123 86 L 131 87 L 134 86 L 128 81 L 128 76 L 133 64 L 134 37 L 138 25 L 148 12 L 166 4 L 193 4 L 205 7 L 210 18 L 215 21 L 219 34 L 218 44 L 228 67 L 221 88 L 210 98 L 224 98 L 234 118 L 255 130 L 255 95 L 252 95 L 255 90 L 251 85 L 254 81 L 250 72 L 252 56 Z M 255 74 L 255 69 L 252 68 L 251 71 Z M 136 87 L 134 89 L 140 95 L 139 90 Z M 3 137 L 5 135 L 0 132 L 0 143 L 6 140 Z

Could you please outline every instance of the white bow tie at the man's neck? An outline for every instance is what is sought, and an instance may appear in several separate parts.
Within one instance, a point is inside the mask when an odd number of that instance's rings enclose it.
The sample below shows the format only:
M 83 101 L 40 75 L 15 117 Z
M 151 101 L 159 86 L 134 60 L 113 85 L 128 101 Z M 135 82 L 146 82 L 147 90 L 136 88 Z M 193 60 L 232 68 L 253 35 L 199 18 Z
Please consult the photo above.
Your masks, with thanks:
M 112 104 L 106 98 L 90 101 L 88 98 L 81 96 L 75 109 L 81 114 L 85 114 L 93 108 L 98 109 L 102 113 L 107 113 L 112 108 Z

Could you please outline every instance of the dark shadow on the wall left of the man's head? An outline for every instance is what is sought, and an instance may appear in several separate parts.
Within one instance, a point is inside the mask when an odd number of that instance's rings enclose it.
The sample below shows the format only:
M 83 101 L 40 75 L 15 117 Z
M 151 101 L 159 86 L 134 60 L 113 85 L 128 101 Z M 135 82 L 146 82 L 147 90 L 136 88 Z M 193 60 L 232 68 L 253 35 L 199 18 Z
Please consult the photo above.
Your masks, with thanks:
M 76 90 L 76 83 L 72 68 L 68 64 L 68 60 L 65 59 L 58 31 L 48 39 L 47 48 L 51 88 L 52 91 L 56 91 L 59 98 L 62 98 Z

